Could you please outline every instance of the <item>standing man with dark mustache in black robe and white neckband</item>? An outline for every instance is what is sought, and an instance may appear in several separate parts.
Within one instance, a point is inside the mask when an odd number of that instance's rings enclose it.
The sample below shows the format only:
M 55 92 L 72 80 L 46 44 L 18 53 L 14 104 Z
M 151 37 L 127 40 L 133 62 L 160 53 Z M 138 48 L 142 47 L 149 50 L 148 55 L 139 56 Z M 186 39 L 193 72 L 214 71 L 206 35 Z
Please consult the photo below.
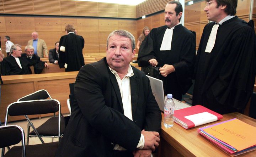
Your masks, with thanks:
M 168 2 L 165 25 L 154 28 L 140 45 L 139 66 L 160 67 L 165 94 L 182 99 L 192 85 L 192 69 L 196 55 L 196 35 L 181 24 L 182 5 Z

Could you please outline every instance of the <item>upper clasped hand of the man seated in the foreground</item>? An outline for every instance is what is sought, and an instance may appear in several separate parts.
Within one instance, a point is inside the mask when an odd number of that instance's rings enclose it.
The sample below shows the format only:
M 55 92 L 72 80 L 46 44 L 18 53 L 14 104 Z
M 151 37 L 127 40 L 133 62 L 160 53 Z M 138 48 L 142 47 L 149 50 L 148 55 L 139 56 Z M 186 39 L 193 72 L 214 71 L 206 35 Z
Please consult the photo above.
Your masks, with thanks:
M 145 144 L 143 149 L 151 149 L 155 151 L 155 148 L 158 147 L 160 141 L 160 135 L 156 131 L 144 131 L 141 132 L 145 139 Z

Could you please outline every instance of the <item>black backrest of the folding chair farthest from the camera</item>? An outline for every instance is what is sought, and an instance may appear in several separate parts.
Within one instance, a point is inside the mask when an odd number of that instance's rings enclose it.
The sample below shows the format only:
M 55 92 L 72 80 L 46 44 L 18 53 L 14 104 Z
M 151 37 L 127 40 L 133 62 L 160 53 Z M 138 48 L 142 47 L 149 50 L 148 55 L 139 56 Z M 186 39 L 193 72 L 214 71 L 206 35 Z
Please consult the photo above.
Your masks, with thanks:
M 17 101 L 43 100 L 43 99 L 47 99 L 47 98 L 52 99 L 52 97 L 50 96 L 50 94 L 48 93 L 47 90 L 41 89 L 36 92 L 33 92 L 32 94 L 26 95 L 26 96 L 18 99 Z

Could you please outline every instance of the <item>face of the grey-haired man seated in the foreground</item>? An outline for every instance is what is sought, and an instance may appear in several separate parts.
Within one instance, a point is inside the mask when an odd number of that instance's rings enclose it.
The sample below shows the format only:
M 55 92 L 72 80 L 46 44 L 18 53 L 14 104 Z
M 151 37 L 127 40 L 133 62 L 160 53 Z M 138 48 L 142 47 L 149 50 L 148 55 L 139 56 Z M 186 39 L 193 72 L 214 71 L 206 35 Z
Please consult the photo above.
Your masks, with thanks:
M 132 50 L 129 38 L 113 35 L 108 40 L 106 53 L 108 66 L 118 72 L 118 70 L 128 69 L 136 50 Z

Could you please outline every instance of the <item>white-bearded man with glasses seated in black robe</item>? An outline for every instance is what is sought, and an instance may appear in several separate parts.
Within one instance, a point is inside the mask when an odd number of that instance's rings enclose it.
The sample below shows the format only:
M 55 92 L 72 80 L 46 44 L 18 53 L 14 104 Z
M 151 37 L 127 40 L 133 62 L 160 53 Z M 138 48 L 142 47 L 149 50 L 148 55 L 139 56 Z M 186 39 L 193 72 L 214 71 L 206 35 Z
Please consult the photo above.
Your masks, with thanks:
M 21 54 L 21 56 L 26 57 L 27 61 L 29 61 L 34 66 L 35 74 L 40 74 L 44 67 L 49 68 L 49 65 L 46 62 L 41 61 L 40 57 L 34 54 L 34 47 L 31 45 L 25 47 L 25 54 Z

